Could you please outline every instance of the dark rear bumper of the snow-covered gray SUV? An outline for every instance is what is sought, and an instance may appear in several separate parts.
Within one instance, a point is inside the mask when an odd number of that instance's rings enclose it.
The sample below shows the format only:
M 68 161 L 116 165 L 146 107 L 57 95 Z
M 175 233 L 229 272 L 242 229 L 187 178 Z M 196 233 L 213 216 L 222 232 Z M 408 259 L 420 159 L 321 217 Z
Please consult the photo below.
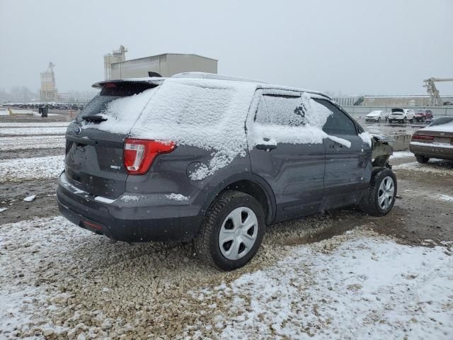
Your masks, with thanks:
M 143 215 L 133 204 L 124 206 L 122 203 L 115 206 L 93 202 L 88 198 L 81 199 L 67 190 L 60 180 L 57 203 L 62 215 L 75 225 L 118 241 L 189 241 L 196 236 L 202 222 L 202 215 L 153 218 L 153 211 L 159 208 L 147 207 L 149 213 Z M 115 210 L 116 216 L 110 213 L 112 209 Z M 175 210 L 178 208 L 175 207 Z M 120 218 L 118 215 L 127 218 Z

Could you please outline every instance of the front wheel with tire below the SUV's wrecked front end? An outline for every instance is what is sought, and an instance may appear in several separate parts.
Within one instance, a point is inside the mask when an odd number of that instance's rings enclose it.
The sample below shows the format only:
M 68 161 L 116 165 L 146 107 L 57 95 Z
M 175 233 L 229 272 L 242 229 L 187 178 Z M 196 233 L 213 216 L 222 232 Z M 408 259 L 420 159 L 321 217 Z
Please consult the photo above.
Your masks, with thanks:
M 372 216 L 387 215 L 394 207 L 396 191 L 396 176 L 393 171 L 385 168 L 373 171 L 369 187 L 363 195 L 359 207 L 363 212 Z

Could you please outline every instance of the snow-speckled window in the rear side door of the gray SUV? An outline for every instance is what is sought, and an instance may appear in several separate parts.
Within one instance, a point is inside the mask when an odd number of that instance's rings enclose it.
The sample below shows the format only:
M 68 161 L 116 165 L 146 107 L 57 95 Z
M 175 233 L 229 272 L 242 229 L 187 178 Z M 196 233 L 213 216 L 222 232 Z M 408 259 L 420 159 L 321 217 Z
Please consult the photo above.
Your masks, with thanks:
M 300 96 L 262 96 L 255 121 L 269 125 L 303 125 L 303 117 L 297 111 L 300 103 Z

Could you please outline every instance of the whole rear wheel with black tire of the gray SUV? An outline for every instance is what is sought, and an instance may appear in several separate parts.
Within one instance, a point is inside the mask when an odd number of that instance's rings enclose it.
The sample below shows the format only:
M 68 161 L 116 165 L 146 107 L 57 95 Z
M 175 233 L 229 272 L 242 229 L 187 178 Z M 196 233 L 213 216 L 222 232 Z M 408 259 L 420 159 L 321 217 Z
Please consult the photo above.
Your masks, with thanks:
M 252 227 L 246 229 L 249 218 L 248 225 Z M 229 239 L 229 230 L 232 239 L 221 244 L 222 235 Z M 240 191 L 224 191 L 206 212 L 195 238 L 195 250 L 202 261 L 223 271 L 232 271 L 245 266 L 255 256 L 264 233 L 265 215 L 258 200 Z

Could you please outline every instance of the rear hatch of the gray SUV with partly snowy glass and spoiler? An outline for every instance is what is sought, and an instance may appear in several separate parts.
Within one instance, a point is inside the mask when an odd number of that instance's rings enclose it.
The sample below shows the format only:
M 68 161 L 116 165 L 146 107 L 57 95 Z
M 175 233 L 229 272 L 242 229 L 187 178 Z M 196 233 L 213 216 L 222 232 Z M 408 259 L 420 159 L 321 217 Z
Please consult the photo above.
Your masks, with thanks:
M 123 148 L 157 82 L 106 81 L 67 129 L 65 172 L 79 193 L 115 199 L 125 192 Z

